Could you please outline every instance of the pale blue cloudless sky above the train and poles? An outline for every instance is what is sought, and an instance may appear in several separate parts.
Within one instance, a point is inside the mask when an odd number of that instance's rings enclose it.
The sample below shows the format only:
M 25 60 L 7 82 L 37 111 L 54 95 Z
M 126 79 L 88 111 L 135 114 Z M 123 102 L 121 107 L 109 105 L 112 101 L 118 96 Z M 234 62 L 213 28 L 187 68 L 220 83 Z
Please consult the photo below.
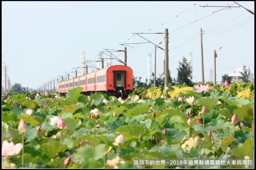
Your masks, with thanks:
M 237 3 L 254 12 L 254 2 Z M 243 65 L 254 73 L 254 15 L 239 5 L 232 1 L 2 2 L 2 68 L 8 66 L 12 85 L 16 82 L 36 89 L 58 75 L 67 75 L 65 72 L 75 76 L 73 68 L 80 71 L 77 67 L 81 51 L 86 52 L 86 60 L 96 61 L 104 49 L 126 47 L 127 65 L 135 77 L 142 77 L 145 82 L 147 56 L 151 53 L 154 71 L 154 44 L 164 41 L 164 34 L 146 33 L 164 32 L 167 28 L 171 77 L 177 77 L 178 62 L 191 52 L 193 80 L 201 81 L 202 28 L 205 81 L 214 68 L 214 50 L 220 47 L 217 80 Z M 133 33 L 143 33 L 139 35 L 154 44 Z M 122 45 L 125 43 L 129 46 Z M 164 43 L 159 46 L 164 48 Z M 123 61 L 123 52 L 113 54 Z M 159 77 L 164 50 L 157 48 L 156 56 Z M 107 56 L 103 54 L 103 58 Z M 92 64 L 97 66 L 96 62 Z M 117 64 L 122 63 L 113 60 L 113 65 Z M 88 68 L 89 72 L 92 70 L 95 68 Z M 3 69 L 2 85 L 5 86 Z

